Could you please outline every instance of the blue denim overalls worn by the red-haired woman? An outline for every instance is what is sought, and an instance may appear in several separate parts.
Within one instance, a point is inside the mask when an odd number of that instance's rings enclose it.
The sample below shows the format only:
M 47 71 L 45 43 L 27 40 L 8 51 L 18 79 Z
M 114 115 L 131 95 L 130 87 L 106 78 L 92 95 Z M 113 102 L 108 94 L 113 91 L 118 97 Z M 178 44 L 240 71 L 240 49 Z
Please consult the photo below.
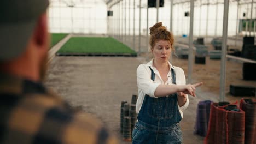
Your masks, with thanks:
M 154 81 L 154 71 L 152 68 L 150 70 L 151 79 Z M 171 75 L 172 83 L 176 84 L 174 69 L 171 69 Z M 179 127 L 182 118 L 177 102 L 176 93 L 159 98 L 146 94 L 132 131 L 132 143 L 182 143 Z

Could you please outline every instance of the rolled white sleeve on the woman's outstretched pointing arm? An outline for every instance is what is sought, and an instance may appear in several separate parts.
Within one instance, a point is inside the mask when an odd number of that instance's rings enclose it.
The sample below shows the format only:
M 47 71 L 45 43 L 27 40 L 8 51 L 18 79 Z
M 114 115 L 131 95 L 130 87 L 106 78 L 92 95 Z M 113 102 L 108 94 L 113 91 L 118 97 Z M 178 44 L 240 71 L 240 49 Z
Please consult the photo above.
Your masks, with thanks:
M 149 68 L 148 68 L 149 69 Z M 155 83 L 151 80 L 150 71 L 143 64 L 139 65 L 137 68 L 137 85 L 144 93 L 150 97 L 155 97 L 155 90 L 160 85 L 160 83 Z

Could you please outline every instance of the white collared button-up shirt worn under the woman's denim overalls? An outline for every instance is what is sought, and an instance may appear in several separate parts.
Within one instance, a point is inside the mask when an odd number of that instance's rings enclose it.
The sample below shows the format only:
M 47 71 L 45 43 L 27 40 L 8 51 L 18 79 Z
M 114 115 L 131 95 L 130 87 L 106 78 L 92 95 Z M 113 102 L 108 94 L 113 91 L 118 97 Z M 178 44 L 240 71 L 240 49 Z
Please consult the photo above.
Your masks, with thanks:
M 170 69 L 173 68 L 176 74 L 176 85 L 186 85 L 186 79 L 185 74 L 182 68 L 179 67 L 173 67 L 170 62 L 168 62 Z M 151 80 L 151 70 L 149 69 L 151 67 L 155 73 L 155 81 Z M 141 64 L 137 68 L 137 85 L 138 85 L 138 100 L 136 104 L 136 112 L 139 113 L 139 110 L 141 110 L 141 106 L 145 97 L 145 94 L 149 95 L 150 97 L 155 97 L 155 89 L 159 85 L 174 85 L 172 83 L 172 75 L 171 70 L 167 74 L 168 80 L 164 82 L 159 74 L 159 71 L 153 67 L 153 59 L 148 62 L 147 64 Z M 186 95 L 187 101 L 182 106 L 179 107 L 179 113 L 181 113 L 181 116 L 183 117 L 183 112 L 185 109 L 187 109 L 189 105 L 189 99 L 188 95 Z

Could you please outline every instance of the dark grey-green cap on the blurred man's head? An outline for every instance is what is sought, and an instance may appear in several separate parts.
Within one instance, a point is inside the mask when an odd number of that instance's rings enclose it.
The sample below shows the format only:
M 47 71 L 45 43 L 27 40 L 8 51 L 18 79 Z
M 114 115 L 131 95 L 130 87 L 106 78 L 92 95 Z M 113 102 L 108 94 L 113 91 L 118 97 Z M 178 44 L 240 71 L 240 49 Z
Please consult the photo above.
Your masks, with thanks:
M 40 14 L 49 0 L 2 0 L 0 3 L 0 61 L 25 51 Z

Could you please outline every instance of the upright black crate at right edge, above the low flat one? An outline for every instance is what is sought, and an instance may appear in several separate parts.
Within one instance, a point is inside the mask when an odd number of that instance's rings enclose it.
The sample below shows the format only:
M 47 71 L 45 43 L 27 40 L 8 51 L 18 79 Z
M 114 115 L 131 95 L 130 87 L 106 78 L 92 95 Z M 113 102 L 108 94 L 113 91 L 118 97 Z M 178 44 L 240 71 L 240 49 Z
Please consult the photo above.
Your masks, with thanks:
M 243 63 L 243 79 L 256 80 L 256 63 Z

